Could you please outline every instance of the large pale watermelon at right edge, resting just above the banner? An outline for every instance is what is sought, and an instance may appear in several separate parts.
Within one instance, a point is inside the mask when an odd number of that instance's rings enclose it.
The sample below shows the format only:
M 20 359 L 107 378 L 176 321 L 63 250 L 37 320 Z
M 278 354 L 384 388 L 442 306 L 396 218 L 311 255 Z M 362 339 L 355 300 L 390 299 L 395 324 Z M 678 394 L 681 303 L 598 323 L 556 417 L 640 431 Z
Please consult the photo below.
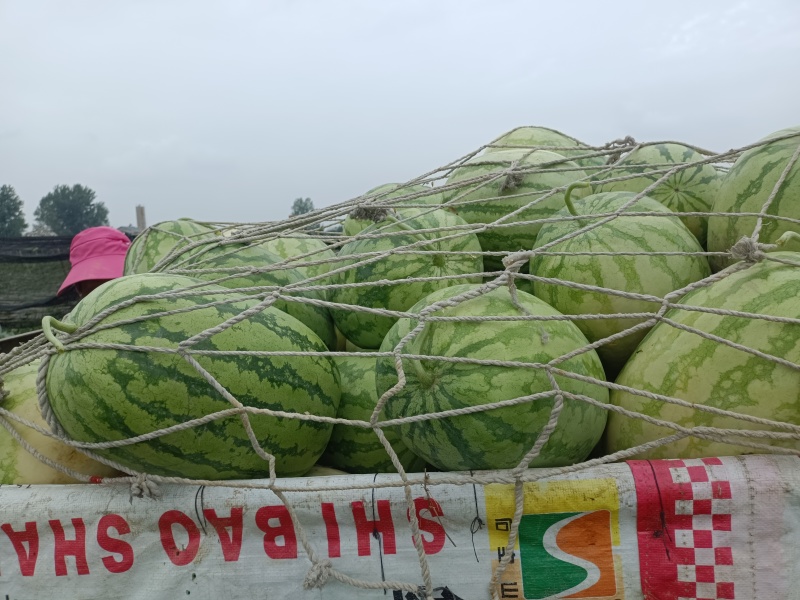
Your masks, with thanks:
M 768 256 L 794 264 L 765 259 L 686 294 L 680 304 L 784 317 L 794 319 L 793 322 L 771 322 L 677 307 L 669 310 L 666 317 L 680 326 L 779 357 L 793 366 L 778 364 L 662 322 L 653 327 L 636 349 L 617 383 L 698 406 L 800 425 L 800 253 L 774 252 Z M 611 402 L 686 428 L 768 429 L 733 417 L 644 398 L 627 390 L 614 390 Z M 780 428 L 771 429 L 785 432 Z M 606 450 L 633 448 L 673 433 L 675 431 L 667 427 L 611 413 Z M 737 444 L 739 439 L 729 437 L 721 442 L 689 437 L 637 456 L 697 458 L 764 452 Z M 800 441 L 796 439 L 750 441 L 800 450 Z

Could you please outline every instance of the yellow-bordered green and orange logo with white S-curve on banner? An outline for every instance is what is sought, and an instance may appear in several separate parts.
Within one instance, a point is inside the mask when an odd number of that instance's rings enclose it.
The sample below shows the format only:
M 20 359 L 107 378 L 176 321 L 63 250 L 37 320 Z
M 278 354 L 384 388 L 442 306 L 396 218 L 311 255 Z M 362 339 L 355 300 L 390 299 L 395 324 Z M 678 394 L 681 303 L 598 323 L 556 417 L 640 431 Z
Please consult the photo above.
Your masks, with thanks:
M 487 486 L 494 568 L 508 545 L 514 487 Z M 541 600 L 621 599 L 619 498 L 614 479 L 525 484 L 523 515 L 499 596 Z

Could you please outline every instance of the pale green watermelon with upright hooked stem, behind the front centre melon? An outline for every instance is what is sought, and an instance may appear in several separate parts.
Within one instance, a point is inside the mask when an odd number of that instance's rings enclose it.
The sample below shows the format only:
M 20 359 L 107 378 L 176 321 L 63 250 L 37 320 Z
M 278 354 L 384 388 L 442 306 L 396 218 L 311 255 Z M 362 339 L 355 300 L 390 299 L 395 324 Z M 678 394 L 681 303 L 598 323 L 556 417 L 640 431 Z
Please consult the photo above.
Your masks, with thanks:
M 613 213 L 636 197 L 633 192 L 605 192 L 577 200 L 557 213 L 559 217 Z M 657 200 L 643 196 L 624 212 L 670 213 Z M 621 292 L 648 294 L 662 298 L 666 294 L 699 281 L 710 274 L 708 261 L 700 254 L 657 256 L 652 252 L 701 253 L 697 239 L 678 217 L 624 216 L 569 239 L 582 227 L 600 220 L 587 216 L 580 220 L 547 223 L 539 231 L 536 248 L 555 242 L 530 260 L 530 273 L 536 277 L 559 279 L 593 285 Z M 559 241 L 560 240 L 560 241 Z M 577 254 L 577 253 L 589 254 Z M 634 255 L 599 255 L 597 252 L 637 252 Z M 569 254 L 558 254 L 569 253 Z M 568 315 L 624 315 L 655 313 L 660 303 L 624 298 L 602 291 L 580 290 L 557 283 L 533 282 L 536 296 Z M 592 342 L 622 332 L 645 319 L 614 318 L 575 319 L 576 325 Z M 633 353 L 646 330 L 638 330 L 597 348 L 606 373 L 613 377 Z

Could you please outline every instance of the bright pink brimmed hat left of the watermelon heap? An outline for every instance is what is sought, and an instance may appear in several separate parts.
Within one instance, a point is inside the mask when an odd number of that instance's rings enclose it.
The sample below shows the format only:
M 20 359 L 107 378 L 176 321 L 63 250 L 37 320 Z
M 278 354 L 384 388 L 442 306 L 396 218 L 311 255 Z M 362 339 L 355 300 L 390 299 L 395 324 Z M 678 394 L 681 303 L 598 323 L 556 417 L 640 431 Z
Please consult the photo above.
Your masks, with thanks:
M 130 245 L 128 236 L 113 227 L 90 227 L 78 233 L 69 246 L 72 269 L 56 295 L 80 281 L 121 277 Z

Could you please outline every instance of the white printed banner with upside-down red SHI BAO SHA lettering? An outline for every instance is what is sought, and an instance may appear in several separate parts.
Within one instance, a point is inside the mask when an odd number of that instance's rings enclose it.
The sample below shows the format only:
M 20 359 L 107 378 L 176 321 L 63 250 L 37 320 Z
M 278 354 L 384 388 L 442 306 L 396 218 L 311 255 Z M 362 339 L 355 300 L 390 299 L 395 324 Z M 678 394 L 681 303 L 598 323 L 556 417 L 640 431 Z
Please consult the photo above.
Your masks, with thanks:
M 433 473 L 411 494 L 432 596 L 800 598 L 798 467 L 631 461 L 526 483 L 510 557 L 514 485 Z M 268 490 L 173 485 L 154 500 L 127 486 L 2 486 L 0 600 L 425 597 L 405 491 L 381 487 L 395 477 L 292 481 L 328 488 L 287 492 L 298 523 Z

